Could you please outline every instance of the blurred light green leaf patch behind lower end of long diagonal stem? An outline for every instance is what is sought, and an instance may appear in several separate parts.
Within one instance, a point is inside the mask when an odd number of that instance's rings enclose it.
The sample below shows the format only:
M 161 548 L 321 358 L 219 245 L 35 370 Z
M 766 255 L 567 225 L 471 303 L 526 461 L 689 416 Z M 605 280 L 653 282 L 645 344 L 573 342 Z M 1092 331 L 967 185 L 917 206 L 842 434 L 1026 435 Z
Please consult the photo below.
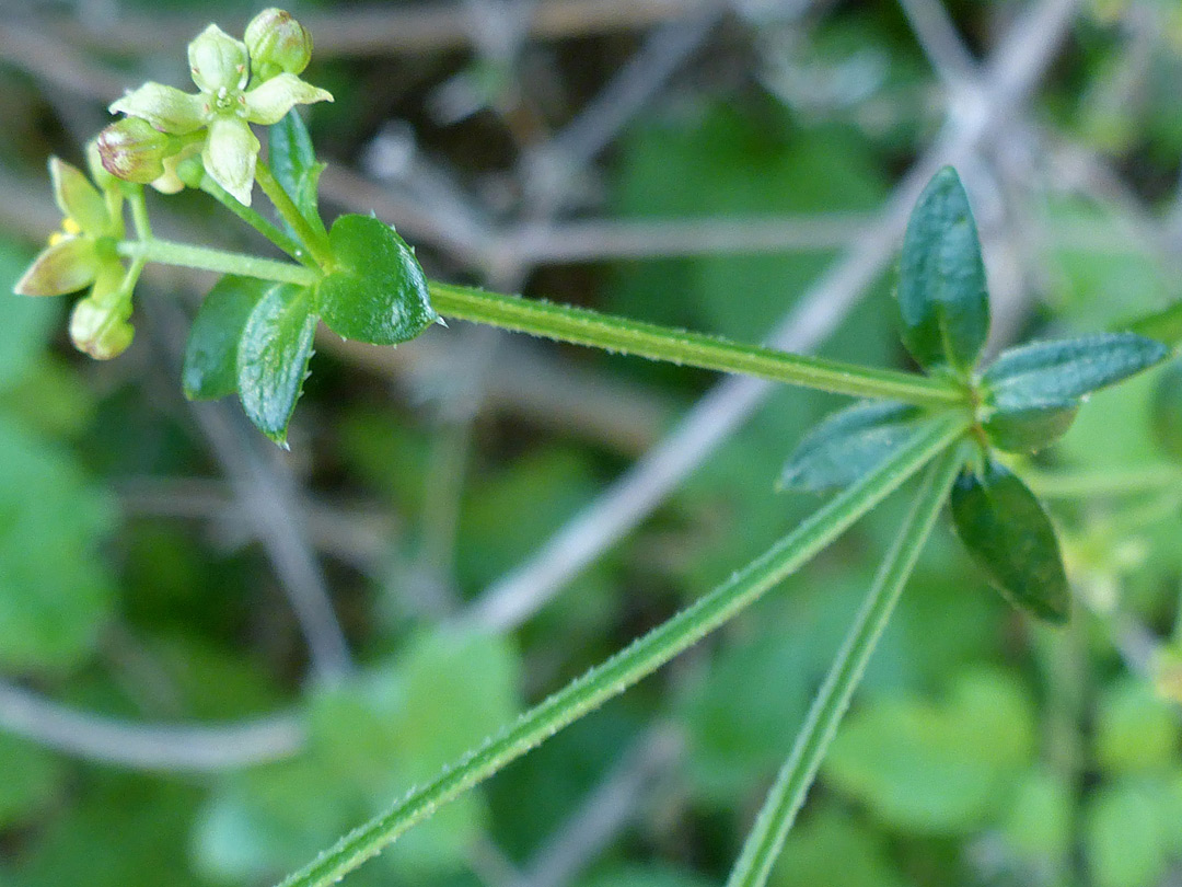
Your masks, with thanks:
M 511 720 L 519 680 L 504 637 L 434 634 L 413 637 L 345 685 L 320 688 L 306 753 L 233 777 L 215 795 L 197 829 L 202 870 L 226 881 L 277 878 Z M 479 794 L 440 810 L 378 861 L 376 882 L 462 870 L 486 818 Z

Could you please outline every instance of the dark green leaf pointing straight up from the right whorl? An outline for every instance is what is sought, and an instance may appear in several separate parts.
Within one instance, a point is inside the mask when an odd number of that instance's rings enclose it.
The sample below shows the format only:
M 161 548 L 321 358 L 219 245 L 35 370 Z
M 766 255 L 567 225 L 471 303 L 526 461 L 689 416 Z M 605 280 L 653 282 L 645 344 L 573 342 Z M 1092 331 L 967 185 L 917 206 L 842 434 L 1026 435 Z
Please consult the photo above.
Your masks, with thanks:
M 968 195 L 944 167 L 911 213 L 900 261 L 903 344 L 920 365 L 966 375 L 989 335 L 985 264 Z

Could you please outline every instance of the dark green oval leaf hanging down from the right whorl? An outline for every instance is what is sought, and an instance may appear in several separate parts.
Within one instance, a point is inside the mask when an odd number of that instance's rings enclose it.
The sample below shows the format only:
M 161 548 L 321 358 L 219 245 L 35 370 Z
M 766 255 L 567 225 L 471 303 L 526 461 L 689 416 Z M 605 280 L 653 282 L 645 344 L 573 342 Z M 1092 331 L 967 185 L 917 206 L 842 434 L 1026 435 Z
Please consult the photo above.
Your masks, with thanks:
M 1054 527 L 1034 493 L 989 460 L 967 470 L 952 493 L 953 523 L 989 582 L 1014 606 L 1064 623 L 1071 611 L 1067 577 Z

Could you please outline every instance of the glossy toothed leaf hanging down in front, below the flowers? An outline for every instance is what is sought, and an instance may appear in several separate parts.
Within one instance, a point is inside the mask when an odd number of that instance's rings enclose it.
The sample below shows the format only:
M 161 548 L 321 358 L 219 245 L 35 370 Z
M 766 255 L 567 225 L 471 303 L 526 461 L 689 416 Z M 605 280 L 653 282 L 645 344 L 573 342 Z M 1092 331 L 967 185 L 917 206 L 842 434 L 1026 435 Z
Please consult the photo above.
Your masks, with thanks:
M 316 332 L 312 292 L 282 284 L 254 306 L 238 345 L 238 390 L 247 416 L 277 444 L 287 439 Z

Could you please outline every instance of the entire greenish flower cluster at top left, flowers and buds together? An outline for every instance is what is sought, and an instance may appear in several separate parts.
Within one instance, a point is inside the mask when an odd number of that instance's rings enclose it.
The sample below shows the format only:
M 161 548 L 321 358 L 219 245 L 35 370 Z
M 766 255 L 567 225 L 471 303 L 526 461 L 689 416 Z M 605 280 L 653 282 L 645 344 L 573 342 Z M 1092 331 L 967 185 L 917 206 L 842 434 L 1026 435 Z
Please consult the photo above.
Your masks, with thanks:
M 57 157 L 50 161 L 61 229 L 15 292 L 63 296 L 89 287 L 70 319 L 74 345 L 100 360 L 126 350 L 134 336 L 131 292 L 143 261 L 128 265 L 121 258 L 124 202 L 142 208 L 143 184 L 181 190 L 178 166 L 200 156 L 204 174 L 248 206 L 260 148 L 251 124 L 271 125 L 294 105 L 332 101 L 299 77 L 311 54 L 307 31 L 281 9 L 259 13 L 245 40 L 207 27 L 189 44 L 196 93 L 147 83 L 112 104 L 111 112 L 125 117 L 87 145 L 89 177 Z

